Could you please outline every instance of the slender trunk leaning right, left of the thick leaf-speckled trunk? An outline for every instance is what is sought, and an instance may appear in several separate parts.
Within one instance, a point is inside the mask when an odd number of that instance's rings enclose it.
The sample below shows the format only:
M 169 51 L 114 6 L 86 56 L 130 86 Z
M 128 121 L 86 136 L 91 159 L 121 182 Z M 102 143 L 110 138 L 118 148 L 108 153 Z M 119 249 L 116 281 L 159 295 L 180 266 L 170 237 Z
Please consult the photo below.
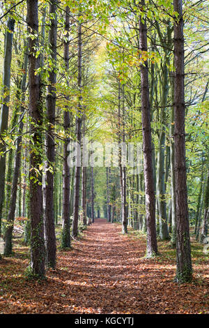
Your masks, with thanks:
M 22 102 L 25 100 L 25 91 L 26 91 L 26 70 L 28 66 L 28 50 L 26 50 L 26 53 L 24 54 L 24 66 L 23 66 L 23 76 L 22 76 L 22 83 L 21 83 L 21 90 L 22 90 Z M 24 107 L 21 107 L 21 112 L 23 115 Z M 6 231 L 5 231 L 5 246 L 4 246 L 4 255 L 11 255 L 13 250 L 13 224 L 15 219 L 15 207 L 16 207 L 16 200 L 17 200 L 17 184 L 18 184 L 18 178 L 20 177 L 20 165 L 21 165 L 21 149 L 22 149 L 22 130 L 23 130 L 23 117 L 21 117 L 20 126 L 18 129 L 18 135 L 17 138 L 17 148 L 15 152 L 15 165 L 14 165 L 14 171 L 13 171 L 13 182 L 12 182 L 12 188 L 10 193 L 10 202 L 9 202 L 9 210 L 8 210 L 8 217 L 6 222 Z M 21 186 L 20 186 L 21 188 Z M 21 214 L 20 214 L 21 215 Z

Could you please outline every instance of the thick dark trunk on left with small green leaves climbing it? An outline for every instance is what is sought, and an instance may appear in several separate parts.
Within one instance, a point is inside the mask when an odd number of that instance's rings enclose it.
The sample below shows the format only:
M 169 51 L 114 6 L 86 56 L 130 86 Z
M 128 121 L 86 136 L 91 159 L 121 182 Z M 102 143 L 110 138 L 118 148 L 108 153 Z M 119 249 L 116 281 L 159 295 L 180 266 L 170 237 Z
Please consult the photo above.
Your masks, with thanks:
M 27 0 L 27 21 L 29 31 L 29 115 L 31 119 L 30 143 L 30 216 L 31 216 L 31 273 L 34 278 L 45 276 L 45 243 L 42 210 L 42 163 L 40 144 L 42 143 L 41 126 L 42 112 L 40 110 L 40 76 L 36 70 L 40 67 L 39 57 L 36 57 L 38 47 L 38 0 Z M 38 149 L 38 151 L 37 151 Z M 36 172 L 39 172 L 38 176 Z

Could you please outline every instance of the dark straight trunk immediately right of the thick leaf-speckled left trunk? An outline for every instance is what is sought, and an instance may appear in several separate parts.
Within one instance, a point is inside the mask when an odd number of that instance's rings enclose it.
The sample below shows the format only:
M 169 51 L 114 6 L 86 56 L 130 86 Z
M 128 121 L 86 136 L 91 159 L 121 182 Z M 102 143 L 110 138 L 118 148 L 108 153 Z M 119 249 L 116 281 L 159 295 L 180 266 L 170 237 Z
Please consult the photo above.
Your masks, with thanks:
M 54 162 L 55 142 L 54 124 L 56 111 L 56 3 L 49 3 L 49 56 L 52 59 L 52 69 L 49 70 L 49 86 L 47 90 L 47 133 L 46 133 L 46 155 L 47 165 L 45 172 L 45 246 L 46 262 L 48 267 L 56 267 L 56 236 L 54 226 Z

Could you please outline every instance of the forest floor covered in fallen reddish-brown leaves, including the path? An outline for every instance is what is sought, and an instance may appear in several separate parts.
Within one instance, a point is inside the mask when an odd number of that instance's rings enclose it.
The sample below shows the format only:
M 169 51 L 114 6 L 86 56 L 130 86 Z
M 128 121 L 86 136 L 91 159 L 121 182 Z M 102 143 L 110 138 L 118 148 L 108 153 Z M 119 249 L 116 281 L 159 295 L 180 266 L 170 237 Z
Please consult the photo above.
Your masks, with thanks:
M 209 262 L 192 242 L 194 280 L 173 282 L 175 251 L 159 242 L 160 255 L 146 259 L 146 239 L 129 228 L 96 219 L 59 251 L 45 281 L 29 281 L 28 248 L 16 242 L 14 258 L 0 262 L 0 313 L 209 313 Z

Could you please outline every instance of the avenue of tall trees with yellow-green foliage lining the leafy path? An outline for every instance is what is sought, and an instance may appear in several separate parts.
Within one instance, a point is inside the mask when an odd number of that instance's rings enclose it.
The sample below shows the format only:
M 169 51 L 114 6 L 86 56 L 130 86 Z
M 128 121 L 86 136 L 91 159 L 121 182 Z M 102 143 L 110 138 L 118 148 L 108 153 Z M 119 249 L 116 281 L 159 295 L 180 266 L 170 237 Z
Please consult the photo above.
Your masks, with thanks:
M 146 233 L 147 258 L 169 240 L 176 281 L 192 281 L 190 234 L 208 235 L 207 1 L 0 3 L 1 256 L 22 221 L 42 278 L 56 268 L 56 225 L 68 250 L 103 217 Z M 142 142 L 143 169 L 132 174 L 121 151 L 118 167 L 70 167 L 84 137 Z

